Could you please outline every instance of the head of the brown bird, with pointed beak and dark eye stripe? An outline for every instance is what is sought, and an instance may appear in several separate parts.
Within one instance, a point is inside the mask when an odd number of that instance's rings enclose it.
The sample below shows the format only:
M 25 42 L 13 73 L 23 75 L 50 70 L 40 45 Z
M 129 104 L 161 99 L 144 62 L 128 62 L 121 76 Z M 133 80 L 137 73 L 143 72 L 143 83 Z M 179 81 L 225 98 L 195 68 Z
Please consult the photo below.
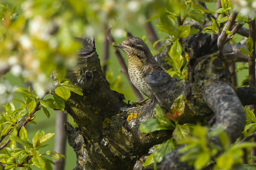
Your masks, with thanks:
M 138 57 L 147 60 L 146 57 L 152 56 L 147 44 L 140 38 L 130 38 L 124 40 L 121 44 L 114 45 L 124 51 L 128 58 Z

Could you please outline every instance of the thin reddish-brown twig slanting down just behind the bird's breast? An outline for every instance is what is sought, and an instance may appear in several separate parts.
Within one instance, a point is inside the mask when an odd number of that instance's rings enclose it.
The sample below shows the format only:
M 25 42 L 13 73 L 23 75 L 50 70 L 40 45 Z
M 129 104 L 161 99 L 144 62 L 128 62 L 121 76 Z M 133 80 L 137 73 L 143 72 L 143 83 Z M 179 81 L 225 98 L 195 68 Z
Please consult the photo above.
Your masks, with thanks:
M 112 35 L 110 33 L 110 29 L 108 29 L 108 28 L 106 28 L 106 36 L 107 36 L 108 42 L 110 44 L 113 44 L 115 42 L 114 38 L 112 37 Z M 122 68 L 122 72 L 126 76 L 130 86 L 132 87 L 132 90 L 133 90 L 135 96 L 137 97 L 137 99 L 139 101 L 143 100 L 143 97 L 142 97 L 140 91 L 138 89 L 136 89 L 136 87 L 132 84 L 132 81 L 130 80 L 128 68 L 124 62 L 124 58 L 122 57 L 120 51 L 117 48 L 114 48 L 113 50 L 114 50 L 114 53 L 116 54 L 116 58 L 119 61 L 120 66 Z

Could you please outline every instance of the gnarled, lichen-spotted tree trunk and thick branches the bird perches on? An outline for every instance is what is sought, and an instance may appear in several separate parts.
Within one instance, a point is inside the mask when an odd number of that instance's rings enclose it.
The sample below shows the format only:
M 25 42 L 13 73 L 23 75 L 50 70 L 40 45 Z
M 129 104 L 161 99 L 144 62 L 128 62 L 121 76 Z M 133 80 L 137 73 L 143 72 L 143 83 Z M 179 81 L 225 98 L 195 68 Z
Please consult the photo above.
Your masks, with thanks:
M 244 98 L 246 91 L 254 99 L 243 103 L 248 104 L 255 102 L 255 95 L 249 92 L 255 89 L 237 88 L 235 91 L 231 87 L 228 62 L 216 51 L 216 40 L 212 41 L 209 34 L 194 34 L 186 41 L 185 79 L 172 78 L 165 72 L 148 75 L 146 81 L 156 97 L 136 108 L 128 107 L 123 102 L 124 95 L 109 88 L 94 39 L 77 40 L 83 44 L 78 51 L 78 65 L 68 70 L 66 78 L 81 87 L 84 96 L 72 93 L 65 106 L 78 124 L 77 128 L 68 122 L 65 124 L 69 145 L 77 156 L 75 170 L 133 169 L 149 148 L 172 137 L 172 131 L 165 131 L 161 137 L 143 133 L 140 123 L 155 117 L 156 104 L 169 111 L 181 94 L 186 103 L 180 124 L 196 123 L 215 114 L 216 125 L 212 128 L 224 125 L 232 141 L 239 137 L 245 114 L 236 93 Z M 212 142 L 219 144 L 217 138 Z M 191 169 L 186 162 L 180 162 L 178 149 L 167 155 L 158 169 Z

